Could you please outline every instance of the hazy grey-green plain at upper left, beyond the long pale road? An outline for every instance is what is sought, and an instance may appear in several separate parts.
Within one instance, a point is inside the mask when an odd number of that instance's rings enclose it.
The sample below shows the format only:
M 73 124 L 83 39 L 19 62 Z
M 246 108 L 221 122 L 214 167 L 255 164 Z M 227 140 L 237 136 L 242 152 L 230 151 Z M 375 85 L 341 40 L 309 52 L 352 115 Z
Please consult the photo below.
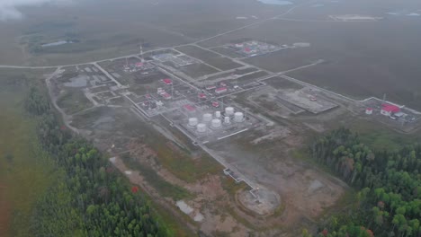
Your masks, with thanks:
M 201 40 L 258 21 L 236 16 L 273 16 L 285 7 L 255 0 L 71 1 L 65 7 L 22 7 L 21 21 L 0 21 L 0 64 L 72 64 L 133 54 L 145 49 Z M 42 48 L 72 40 L 73 44 Z

